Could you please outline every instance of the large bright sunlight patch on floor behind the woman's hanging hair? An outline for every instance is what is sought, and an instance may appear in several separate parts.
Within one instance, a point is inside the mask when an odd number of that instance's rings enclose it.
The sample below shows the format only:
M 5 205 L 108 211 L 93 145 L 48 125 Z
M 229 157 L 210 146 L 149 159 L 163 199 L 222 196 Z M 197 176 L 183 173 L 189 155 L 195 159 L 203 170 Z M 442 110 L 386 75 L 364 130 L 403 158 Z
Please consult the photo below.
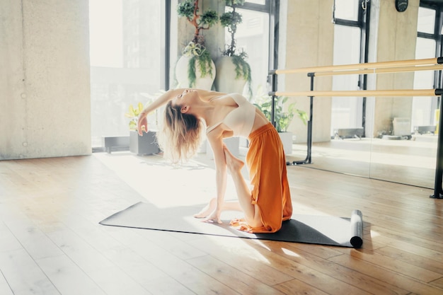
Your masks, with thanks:
M 136 156 L 128 152 L 93 154 L 147 202 L 157 207 L 207 204 L 216 196 L 215 171 L 198 158 L 172 166 L 161 156 Z M 236 199 L 230 179 L 226 200 Z

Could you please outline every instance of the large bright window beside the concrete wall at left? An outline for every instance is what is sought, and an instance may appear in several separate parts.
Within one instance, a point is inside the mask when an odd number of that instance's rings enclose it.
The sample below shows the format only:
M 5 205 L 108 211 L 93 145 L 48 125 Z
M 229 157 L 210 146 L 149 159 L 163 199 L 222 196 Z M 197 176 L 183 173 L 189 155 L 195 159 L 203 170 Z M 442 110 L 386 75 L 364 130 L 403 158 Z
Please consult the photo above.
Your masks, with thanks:
M 90 0 L 93 148 L 128 136 L 129 106 L 164 88 L 163 0 Z

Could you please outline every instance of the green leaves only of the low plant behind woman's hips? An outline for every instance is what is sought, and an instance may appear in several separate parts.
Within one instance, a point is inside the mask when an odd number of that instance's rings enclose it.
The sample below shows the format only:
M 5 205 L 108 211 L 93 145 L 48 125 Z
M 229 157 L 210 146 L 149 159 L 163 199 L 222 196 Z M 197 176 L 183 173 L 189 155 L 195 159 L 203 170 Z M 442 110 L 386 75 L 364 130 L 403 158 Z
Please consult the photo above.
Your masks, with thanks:
M 295 103 L 291 103 L 288 105 L 287 112 L 283 111 L 283 106 L 287 102 L 287 96 L 277 96 L 275 100 L 275 112 L 274 112 L 274 120 L 275 120 L 275 129 L 277 132 L 287 132 L 287 127 L 291 124 L 294 119 L 294 115 L 297 114 L 297 117 L 303 122 L 304 125 L 307 124 L 308 115 L 304 110 L 299 110 L 295 108 Z M 272 97 L 264 94 L 263 91 L 260 91 L 258 96 L 255 97 L 255 106 L 265 114 L 267 120 L 271 121 L 272 117 Z

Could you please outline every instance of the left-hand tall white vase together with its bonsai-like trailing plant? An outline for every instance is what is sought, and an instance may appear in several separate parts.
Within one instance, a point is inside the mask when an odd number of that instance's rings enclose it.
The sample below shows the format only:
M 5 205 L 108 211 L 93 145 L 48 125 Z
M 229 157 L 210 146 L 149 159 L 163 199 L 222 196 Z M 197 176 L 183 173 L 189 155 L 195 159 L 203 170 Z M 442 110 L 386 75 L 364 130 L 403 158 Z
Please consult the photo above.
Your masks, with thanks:
M 180 87 L 211 90 L 215 78 L 215 64 L 205 47 L 202 30 L 209 30 L 219 20 L 217 12 L 207 10 L 199 13 L 198 0 L 185 0 L 178 4 L 177 13 L 194 26 L 194 36 L 185 46 L 176 64 L 176 78 Z M 199 79 L 200 78 L 200 79 Z

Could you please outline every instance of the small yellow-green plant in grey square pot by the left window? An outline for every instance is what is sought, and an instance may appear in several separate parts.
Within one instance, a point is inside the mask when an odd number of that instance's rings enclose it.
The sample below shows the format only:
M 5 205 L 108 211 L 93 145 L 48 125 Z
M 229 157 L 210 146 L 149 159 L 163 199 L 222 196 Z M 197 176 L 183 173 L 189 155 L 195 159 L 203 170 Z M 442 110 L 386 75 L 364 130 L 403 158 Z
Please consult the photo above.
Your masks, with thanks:
M 129 110 L 125 112 L 125 117 L 130 118 L 130 151 L 137 155 L 157 154 L 160 149 L 156 142 L 156 132 L 149 130 L 140 136 L 137 131 L 137 122 L 142 110 L 144 110 L 143 103 L 138 103 L 137 108 L 130 105 Z

